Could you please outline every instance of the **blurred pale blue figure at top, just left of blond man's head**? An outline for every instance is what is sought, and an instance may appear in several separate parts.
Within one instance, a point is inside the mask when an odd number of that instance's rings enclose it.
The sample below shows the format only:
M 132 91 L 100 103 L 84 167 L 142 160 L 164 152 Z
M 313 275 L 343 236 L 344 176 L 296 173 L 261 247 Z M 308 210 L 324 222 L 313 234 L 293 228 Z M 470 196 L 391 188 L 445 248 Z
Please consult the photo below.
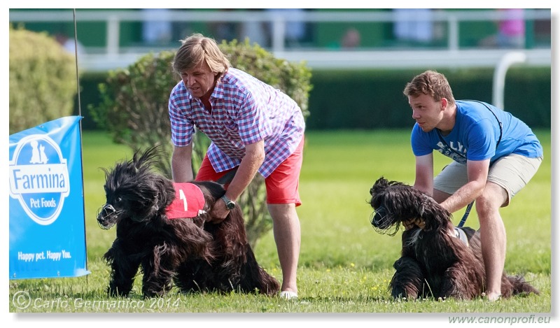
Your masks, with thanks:
M 145 43 L 167 45 L 172 40 L 172 22 L 169 9 L 142 9 L 144 17 L 158 17 L 161 20 L 144 20 L 142 24 L 142 38 Z

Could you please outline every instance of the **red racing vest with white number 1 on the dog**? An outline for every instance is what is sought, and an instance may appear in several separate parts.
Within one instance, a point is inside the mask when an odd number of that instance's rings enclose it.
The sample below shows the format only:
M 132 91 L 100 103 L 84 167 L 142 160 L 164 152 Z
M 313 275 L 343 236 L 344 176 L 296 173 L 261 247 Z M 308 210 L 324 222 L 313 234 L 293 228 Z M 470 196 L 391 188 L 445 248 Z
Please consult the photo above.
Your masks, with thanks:
M 175 187 L 175 199 L 166 209 L 165 214 L 169 219 L 195 218 L 197 215 L 206 213 L 203 208 L 204 194 L 202 190 L 193 183 L 173 183 Z

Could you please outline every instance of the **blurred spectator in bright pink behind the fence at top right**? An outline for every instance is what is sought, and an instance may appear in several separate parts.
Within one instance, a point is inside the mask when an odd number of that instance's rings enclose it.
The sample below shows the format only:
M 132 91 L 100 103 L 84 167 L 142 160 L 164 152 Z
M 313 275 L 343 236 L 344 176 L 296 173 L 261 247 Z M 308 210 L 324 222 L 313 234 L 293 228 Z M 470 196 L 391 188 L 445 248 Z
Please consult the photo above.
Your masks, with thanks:
M 479 44 L 483 47 L 525 48 L 524 10 L 522 8 L 498 10 L 506 13 L 507 17 L 497 22 L 496 35 L 482 39 Z

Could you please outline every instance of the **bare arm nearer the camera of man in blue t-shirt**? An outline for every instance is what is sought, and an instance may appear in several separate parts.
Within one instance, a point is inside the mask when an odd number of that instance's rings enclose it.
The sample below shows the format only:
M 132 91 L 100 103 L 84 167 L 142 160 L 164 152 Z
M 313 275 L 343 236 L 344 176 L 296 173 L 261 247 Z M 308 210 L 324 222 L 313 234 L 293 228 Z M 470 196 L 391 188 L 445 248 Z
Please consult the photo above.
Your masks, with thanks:
M 477 199 L 486 186 L 490 159 L 482 161 L 467 160 L 468 183 L 459 188 L 454 194 L 441 203 L 449 213 L 454 213 Z

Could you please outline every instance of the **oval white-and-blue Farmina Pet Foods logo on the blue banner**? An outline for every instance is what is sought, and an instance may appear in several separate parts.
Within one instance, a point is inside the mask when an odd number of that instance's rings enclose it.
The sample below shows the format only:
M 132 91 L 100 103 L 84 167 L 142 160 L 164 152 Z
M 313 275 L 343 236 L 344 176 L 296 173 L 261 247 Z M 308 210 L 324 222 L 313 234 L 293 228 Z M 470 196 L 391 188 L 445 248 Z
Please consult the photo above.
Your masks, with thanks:
M 10 159 L 10 197 L 18 199 L 31 220 L 42 225 L 57 220 L 70 194 L 66 159 L 49 136 L 22 138 Z

